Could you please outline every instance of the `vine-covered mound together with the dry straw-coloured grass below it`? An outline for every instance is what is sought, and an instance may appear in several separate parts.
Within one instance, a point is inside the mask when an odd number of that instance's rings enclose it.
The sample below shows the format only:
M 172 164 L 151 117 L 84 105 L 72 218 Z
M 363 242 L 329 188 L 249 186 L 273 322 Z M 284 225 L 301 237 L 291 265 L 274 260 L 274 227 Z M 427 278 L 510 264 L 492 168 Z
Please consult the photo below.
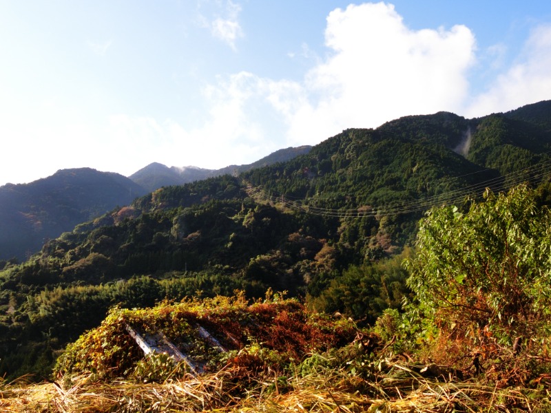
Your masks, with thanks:
M 67 347 L 56 380 L 0 383 L 3 412 L 543 412 L 549 390 L 499 388 L 396 354 L 384 317 L 371 330 L 267 295 L 114 308 Z M 388 321 L 388 315 L 386 317 Z M 159 330 L 201 366 L 144 357 L 126 326 Z M 212 346 L 198 326 L 215 337 Z

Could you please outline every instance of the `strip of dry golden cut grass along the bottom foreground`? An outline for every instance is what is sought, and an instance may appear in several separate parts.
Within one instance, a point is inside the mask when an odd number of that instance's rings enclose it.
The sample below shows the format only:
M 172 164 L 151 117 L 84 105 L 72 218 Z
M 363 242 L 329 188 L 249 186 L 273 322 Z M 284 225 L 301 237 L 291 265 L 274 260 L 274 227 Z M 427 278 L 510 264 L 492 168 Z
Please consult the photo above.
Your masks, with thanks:
M 395 367 L 395 366 L 394 366 Z M 254 377 L 245 388 L 235 369 L 165 383 L 97 381 L 93 374 L 59 383 L 1 388 L 2 412 L 545 412 L 548 390 L 498 389 L 419 377 L 408 368 L 375 381 L 319 368 L 302 376 Z M 279 383 L 279 384 L 278 384 Z

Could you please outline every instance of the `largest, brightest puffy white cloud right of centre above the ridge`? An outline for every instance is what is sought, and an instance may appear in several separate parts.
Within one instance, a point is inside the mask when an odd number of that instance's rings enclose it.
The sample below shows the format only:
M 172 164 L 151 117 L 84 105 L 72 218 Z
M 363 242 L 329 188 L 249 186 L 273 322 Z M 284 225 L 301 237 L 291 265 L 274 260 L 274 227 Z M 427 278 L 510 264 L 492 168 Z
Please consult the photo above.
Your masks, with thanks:
M 283 112 L 293 145 L 399 116 L 457 111 L 467 96 L 475 37 L 463 25 L 410 30 L 391 4 L 366 3 L 331 12 L 325 40 L 330 56 L 306 74 L 300 99 L 295 92 L 293 109 Z

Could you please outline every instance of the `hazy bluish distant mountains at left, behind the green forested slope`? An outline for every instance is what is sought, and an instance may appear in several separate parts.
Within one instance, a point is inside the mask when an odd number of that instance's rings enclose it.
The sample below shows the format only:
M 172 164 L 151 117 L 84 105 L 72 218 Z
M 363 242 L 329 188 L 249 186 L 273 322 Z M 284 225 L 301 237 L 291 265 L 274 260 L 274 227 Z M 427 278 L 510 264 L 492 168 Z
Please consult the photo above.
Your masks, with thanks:
M 166 167 L 152 163 L 129 178 L 90 168 L 62 169 L 28 184 L 0 187 L 0 260 L 20 262 L 40 250 L 50 238 L 71 231 L 117 206 L 160 187 L 240 173 L 308 153 L 311 147 L 281 149 L 250 165 L 223 169 Z

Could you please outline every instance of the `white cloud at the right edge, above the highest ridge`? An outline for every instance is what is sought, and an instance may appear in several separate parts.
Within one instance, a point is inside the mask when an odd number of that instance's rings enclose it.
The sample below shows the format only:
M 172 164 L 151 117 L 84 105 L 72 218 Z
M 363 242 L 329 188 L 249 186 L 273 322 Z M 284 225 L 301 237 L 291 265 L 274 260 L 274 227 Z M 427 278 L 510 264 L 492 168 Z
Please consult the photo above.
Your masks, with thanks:
M 484 116 L 551 98 L 551 25 L 534 30 L 519 59 L 475 97 L 466 116 Z

